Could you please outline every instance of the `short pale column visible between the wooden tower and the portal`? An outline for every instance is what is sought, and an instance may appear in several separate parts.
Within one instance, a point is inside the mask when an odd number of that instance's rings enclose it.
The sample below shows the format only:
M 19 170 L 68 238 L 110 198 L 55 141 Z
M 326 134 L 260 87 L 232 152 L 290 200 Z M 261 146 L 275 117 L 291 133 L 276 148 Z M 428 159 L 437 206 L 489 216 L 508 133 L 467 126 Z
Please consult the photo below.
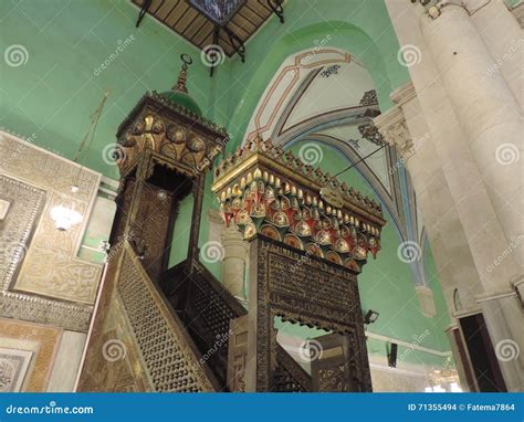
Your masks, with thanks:
M 242 239 L 240 231 L 231 224 L 223 228 L 222 246 L 222 283 L 224 287 L 240 302 L 245 302 L 245 261 L 249 243 Z

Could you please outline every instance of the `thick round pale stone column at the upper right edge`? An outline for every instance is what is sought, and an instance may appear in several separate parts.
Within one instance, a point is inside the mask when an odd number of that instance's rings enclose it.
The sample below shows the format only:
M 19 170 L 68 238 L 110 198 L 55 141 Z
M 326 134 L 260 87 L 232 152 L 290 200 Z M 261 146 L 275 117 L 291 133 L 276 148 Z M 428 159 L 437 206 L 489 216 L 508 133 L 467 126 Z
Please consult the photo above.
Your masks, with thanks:
M 494 60 L 463 7 L 449 3 L 437 19 L 421 17 L 420 23 L 509 244 L 524 233 L 521 106 L 502 74 L 490 72 Z M 521 273 L 523 256 L 520 244 L 507 259 Z

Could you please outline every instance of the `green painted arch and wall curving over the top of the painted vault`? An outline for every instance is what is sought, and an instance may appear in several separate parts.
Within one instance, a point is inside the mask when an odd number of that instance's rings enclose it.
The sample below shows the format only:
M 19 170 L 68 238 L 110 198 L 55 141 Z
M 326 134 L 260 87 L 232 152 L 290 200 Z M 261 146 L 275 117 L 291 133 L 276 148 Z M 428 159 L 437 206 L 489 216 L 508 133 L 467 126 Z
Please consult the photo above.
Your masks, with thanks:
M 397 60 L 399 45 L 382 0 L 290 0 L 284 13 L 289 17 L 285 24 L 272 19 L 249 41 L 245 63 L 234 57 L 232 68 L 224 70 L 234 75 L 228 85 L 230 150 L 241 143 L 262 93 L 282 62 L 314 49 L 327 35 L 329 41 L 322 43 L 325 48 L 347 51 L 366 65 L 382 110 L 391 105 L 390 92 L 409 81 L 406 67 Z

